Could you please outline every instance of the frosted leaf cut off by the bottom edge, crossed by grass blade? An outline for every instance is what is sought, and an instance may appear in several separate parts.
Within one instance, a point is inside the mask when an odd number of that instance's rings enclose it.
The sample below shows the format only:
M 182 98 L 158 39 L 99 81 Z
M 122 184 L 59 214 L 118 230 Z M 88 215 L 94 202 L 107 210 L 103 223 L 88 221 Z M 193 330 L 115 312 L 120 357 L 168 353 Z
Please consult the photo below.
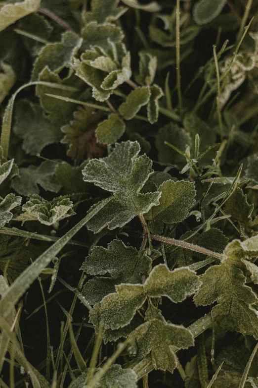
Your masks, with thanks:
M 96 369 L 96 372 L 100 368 Z M 69 388 L 83 388 L 87 372 L 75 379 Z M 114 364 L 95 385 L 96 388 L 137 388 L 137 375 L 132 369 L 122 369 L 121 365 Z

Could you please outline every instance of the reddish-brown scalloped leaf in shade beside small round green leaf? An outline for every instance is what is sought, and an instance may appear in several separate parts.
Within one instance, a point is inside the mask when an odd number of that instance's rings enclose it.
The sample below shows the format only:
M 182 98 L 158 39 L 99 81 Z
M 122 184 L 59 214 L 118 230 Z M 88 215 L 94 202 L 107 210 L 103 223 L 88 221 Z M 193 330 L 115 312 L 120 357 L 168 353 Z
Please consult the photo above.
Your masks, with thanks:
M 95 136 L 95 128 L 102 115 L 102 111 L 81 106 L 73 112 L 74 119 L 61 128 L 65 133 L 61 143 L 69 145 L 68 156 L 79 162 L 103 156 L 104 147 L 97 143 Z

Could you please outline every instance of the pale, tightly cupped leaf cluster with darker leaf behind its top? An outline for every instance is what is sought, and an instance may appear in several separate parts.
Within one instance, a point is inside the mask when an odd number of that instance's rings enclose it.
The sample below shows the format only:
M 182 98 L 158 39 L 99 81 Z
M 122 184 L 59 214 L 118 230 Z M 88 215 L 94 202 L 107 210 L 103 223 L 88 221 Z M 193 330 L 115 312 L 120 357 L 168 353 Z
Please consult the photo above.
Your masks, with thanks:
M 122 30 L 113 24 L 90 22 L 82 32 L 85 52 L 74 58 L 76 75 L 92 87 L 92 96 L 105 101 L 131 76 L 130 53 Z

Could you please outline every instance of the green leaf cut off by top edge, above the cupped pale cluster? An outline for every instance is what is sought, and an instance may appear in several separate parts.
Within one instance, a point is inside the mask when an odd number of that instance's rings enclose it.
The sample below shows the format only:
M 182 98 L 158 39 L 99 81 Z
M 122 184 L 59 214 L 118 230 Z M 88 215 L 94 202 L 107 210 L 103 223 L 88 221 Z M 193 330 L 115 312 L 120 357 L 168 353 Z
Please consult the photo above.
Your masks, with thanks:
M 87 24 L 91 21 L 97 23 L 112 22 L 122 16 L 128 8 L 119 7 L 119 0 L 93 0 L 90 3 L 90 11 L 84 12 L 84 22 Z

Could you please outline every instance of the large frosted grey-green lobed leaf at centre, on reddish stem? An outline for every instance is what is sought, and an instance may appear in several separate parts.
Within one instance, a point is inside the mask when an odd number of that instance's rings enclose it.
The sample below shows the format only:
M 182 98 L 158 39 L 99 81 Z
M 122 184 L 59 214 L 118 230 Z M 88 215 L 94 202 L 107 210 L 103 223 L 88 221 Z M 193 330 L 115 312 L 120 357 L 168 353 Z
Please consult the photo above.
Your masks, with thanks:
M 83 170 L 84 180 L 113 193 L 112 200 L 88 223 L 95 233 L 105 226 L 122 227 L 140 213 L 147 213 L 158 205 L 160 193 L 141 194 L 151 175 L 152 162 L 146 155 L 138 157 L 137 142 L 122 142 L 103 159 L 92 159 Z

